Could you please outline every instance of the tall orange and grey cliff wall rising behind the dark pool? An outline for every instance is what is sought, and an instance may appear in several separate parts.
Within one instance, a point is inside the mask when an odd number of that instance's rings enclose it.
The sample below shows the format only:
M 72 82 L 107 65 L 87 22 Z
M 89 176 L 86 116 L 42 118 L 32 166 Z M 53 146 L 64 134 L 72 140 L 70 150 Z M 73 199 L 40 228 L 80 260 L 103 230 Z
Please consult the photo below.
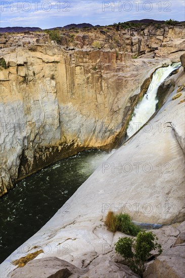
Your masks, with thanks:
M 1 196 L 19 179 L 57 160 L 84 149 L 108 150 L 119 144 L 152 73 L 179 61 L 184 30 L 182 26 L 165 28 L 160 29 L 167 30 L 164 38 L 174 38 L 170 47 L 159 49 L 163 59 L 132 59 L 133 45 L 139 45 L 134 39 L 145 33 L 150 43 L 156 39 L 159 31 L 155 29 L 154 35 L 152 27 L 133 30 L 133 34 L 119 31 L 122 46 L 117 50 L 127 52 L 111 50 L 111 41 L 118 41 L 103 30 L 87 30 L 86 36 L 93 39 L 87 43 L 86 37 L 83 49 L 75 51 L 54 45 L 44 33 L 1 38 L 1 57 L 6 62 L 0 71 Z M 67 43 L 68 36 L 66 31 L 61 44 Z M 102 50 L 89 49 L 95 40 L 104 41 Z M 154 55 L 150 43 L 144 43 L 147 57 L 148 51 Z

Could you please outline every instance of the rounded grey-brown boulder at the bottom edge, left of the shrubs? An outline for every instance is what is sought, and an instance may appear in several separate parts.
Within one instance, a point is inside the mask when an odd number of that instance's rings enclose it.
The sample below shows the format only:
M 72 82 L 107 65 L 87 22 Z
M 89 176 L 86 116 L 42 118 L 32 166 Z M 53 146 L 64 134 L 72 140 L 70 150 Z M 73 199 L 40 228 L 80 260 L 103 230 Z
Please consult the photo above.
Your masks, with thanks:
M 84 271 L 56 257 L 29 261 L 24 267 L 16 268 L 12 278 L 78 278 Z

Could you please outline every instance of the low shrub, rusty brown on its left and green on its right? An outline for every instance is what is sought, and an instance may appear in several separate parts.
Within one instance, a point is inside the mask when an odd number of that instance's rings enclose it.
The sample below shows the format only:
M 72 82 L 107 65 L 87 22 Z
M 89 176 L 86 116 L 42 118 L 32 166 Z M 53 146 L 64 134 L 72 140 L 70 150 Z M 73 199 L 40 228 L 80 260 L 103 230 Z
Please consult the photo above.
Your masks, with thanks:
M 131 222 L 130 216 L 126 213 L 114 214 L 112 211 L 109 211 L 105 224 L 113 233 L 118 230 L 124 234 L 136 236 L 140 231 L 140 228 Z

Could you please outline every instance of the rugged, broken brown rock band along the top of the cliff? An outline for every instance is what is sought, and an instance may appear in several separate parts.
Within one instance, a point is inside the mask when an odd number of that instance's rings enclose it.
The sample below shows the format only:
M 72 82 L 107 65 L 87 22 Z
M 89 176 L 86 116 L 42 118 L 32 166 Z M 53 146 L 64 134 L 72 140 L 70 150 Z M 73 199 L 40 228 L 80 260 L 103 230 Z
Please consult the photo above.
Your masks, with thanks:
M 132 53 L 133 56 L 153 55 L 166 57 L 172 53 L 184 50 L 184 24 L 167 26 L 165 24 L 141 26 L 130 29 L 116 27 L 99 27 L 85 29 L 62 30 L 59 32 L 58 44 L 65 49 L 89 49 L 98 42 L 100 49 L 116 49 Z M 48 34 L 29 33 L 16 35 L 2 35 L 0 47 L 7 48 L 14 45 L 29 45 L 35 43 L 52 44 L 55 41 Z M 96 47 L 96 44 L 95 46 Z M 178 53 L 179 57 L 179 53 Z

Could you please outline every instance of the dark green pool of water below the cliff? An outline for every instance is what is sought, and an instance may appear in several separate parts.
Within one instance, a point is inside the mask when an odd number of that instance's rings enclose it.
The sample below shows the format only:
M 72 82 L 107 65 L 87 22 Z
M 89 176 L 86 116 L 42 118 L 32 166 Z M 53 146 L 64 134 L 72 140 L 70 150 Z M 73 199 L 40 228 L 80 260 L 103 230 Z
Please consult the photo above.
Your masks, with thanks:
M 86 151 L 27 177 L 0 200 L 4 261 L 36 233 L 110 154 Z

